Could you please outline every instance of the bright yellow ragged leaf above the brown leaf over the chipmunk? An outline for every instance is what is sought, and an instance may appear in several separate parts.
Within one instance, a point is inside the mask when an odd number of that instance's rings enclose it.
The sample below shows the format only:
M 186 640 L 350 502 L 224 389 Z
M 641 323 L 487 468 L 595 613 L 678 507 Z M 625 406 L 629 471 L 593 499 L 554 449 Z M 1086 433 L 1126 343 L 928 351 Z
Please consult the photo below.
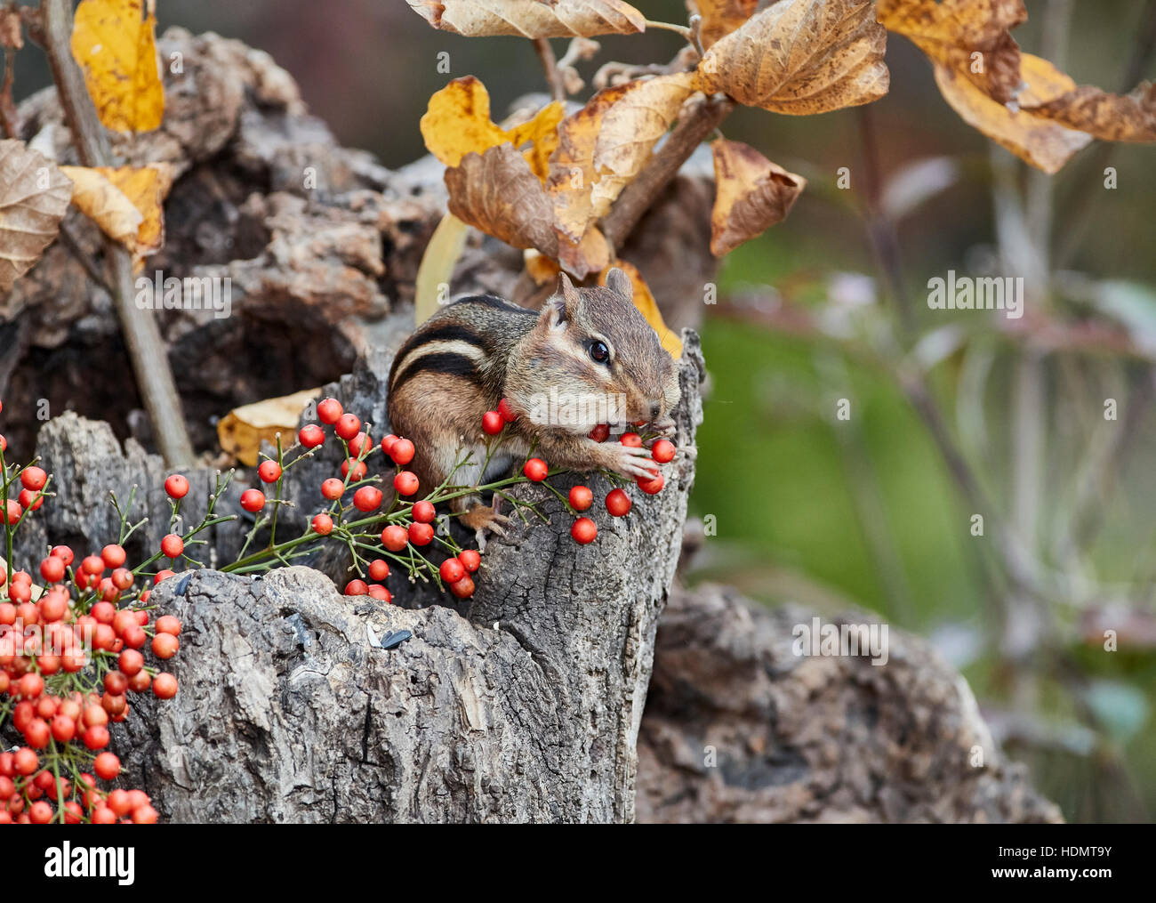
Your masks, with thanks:
M 447 166 L 457 166 L 466 154 L 481 154 L 509 141 L 525 151 L 526 161 L 546 180 L 548 161 L 557 147 L 557 125 L 563 109 L 557 101 L 547 104 L 533 119 L 513 128 L 502 128 L 490 119 L 490 95 L 473 75 L 454 79 L 429 99 L 418 127 L 425 148 Z

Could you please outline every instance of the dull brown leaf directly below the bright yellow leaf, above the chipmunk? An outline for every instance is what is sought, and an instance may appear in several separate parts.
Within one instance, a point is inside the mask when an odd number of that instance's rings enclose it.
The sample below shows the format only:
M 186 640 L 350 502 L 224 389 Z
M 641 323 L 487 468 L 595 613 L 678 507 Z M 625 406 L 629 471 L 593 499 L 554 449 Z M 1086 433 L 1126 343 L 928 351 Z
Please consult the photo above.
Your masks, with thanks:
M 554 205 L 513 145 L 466 154 L 445 171 L 450 213 L 513 247 L 557 257 Z

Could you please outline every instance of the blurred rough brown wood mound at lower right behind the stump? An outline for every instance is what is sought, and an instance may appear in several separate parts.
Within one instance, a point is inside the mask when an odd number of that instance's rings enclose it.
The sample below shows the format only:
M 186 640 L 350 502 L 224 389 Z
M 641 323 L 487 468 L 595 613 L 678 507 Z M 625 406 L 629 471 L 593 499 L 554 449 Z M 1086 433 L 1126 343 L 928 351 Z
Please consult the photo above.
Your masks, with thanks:
M 877 666 L 799 657 L 792 630 L 813 616 L 720 586 L 670 594 L 638 741 L 639 821 L 1061 820 L 925 641 L 890 629 Z

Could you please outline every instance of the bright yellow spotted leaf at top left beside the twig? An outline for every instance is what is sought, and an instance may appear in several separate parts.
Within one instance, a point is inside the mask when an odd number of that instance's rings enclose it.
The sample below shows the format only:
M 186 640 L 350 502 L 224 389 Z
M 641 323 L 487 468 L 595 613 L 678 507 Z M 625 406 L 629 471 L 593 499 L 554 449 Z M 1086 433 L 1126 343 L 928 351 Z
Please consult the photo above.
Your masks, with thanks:
M 156 66 L 153 0 L 81 0 L 72 54 L 101 121 L 118 132 L 161 125 L 164 88 Z

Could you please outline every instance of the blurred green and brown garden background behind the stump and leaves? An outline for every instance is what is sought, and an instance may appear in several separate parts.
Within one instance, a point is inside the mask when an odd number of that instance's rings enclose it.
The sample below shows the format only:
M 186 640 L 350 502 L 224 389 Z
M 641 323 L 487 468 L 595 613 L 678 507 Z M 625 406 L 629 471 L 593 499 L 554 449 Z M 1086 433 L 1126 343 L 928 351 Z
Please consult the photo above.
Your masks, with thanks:
M 390 166 L 425 153 L 417 120 L 450 77 L 483 76 L 496 111 L 544 89 L 531 42 L 433 31 L 406 3 L 158 6 L 161 30 L 267 50 L 344 145 Z M 637 6 L 686 21 L 681 0 Z M 1016 39 L 1076 82 L 1126 91 L 1154 74 L 1153 0 L 1027 6 Z M 681 44 L 659 31 L 599 42 L 602 59 L 637 62 Z M 890 36 L 887 62 L 890 92 L 869 106 L 740 109 L 724 127 L 808 188 L 786 223 L 724 260 L 706 309 L 692 504 L 718 532 L 691 578 L 824 614 L 861 606 L 931 637 L 1068 819 L 1149 820 L 1153 150 L 1095 143 L 1047 177 L 964 124 L 905 39 Z M 18 58 L 17 98 L 47 83 L 36 65 Z M 579 66 L 587 81 L 598 65 Z M 927 281 L 949 269 L 1024 276 L 1024 317 L 928 310 Z

